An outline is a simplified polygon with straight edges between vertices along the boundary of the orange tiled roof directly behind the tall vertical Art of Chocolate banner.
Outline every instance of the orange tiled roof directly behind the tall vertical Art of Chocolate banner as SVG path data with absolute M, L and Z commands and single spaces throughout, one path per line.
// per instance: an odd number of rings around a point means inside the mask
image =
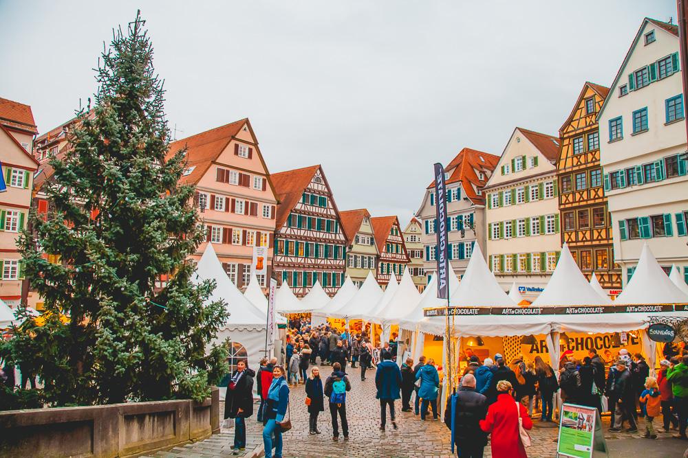
M 482 160 L 480 159 L 482 157 Z M 444 171 L 449 173 L 449 178 L 447 179 L 447 184 L 456 183 L 458 181 L 465 181 L 464 192 L 466 197 L 471 199 L 473 203 L 484 203 L 485 197 L 478 196 L 473 189 L 475 187 L 483 187 L 487 183 L 488 176 L 485 174 L 484 179 L 480 179 L 477 170 L 484 170 L 486 172 L 492 172 L 497 167 L 499 163 L 499 156 L 495 154 L 490 154 L 488 152 L 473 150 L 471 148 L 463 148 L 459 154 L 451 160 Z M 433 187 L 435 181 L 430 183 L 428 188 Z

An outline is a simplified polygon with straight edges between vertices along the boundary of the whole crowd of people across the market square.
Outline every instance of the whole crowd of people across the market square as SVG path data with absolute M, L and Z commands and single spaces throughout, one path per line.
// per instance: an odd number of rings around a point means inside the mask
M 253 371 L 241 360 L 230 376 L 224 416 L 234 419 L 233 448 L 237 455 L 246 447 L 245 419 L 254 413 L 254 380 L 260 398 L 257 420 L 264 424 L 267 458 L 282 456 L 281 435 L 291 427 L 290 388 L 298 385 L 305 387 L 309 433 L 321 434 L 319 413 L 327 407 L 332 439 L 349 439 L 346 401 L 352 385 L 347 368 L 360 368 L 361 380 L 366 380 L 368 369 L 375 369 L 380 431 L 387 428 L 387 420 L 392 428 L 398 428 L 398 399 L 403 412 L 412 411 L 421 421 L 429 420 L 431 412 L 432 420 L 440 420 L 442 368 L 424 356 L 416 364 L 407 358 L 398 365 L 395 335 L 389 342 L 374 346 L 365 332 L 340 332 L 329 325 L 312 328 L 301 321 L 289 330 L 283 352 L 284 366 L 277 364 L 277 358 L 264 358 L 259 369 Z M 555 394 L 559 391 L 563 402 L 601 413 L 610 411 L 610 431 L 621 431 L 625 423 L 627 431 L 638 431 L 640 411 L 645 418 L 645 437 L 657 437 L 654 419 L 661 415 L 664 432 L 676 431 L 676 437 L 687 439 L 687 353 L 683 346 L 667 344 L 667 359 L 660 362 L 656 378 L 649 376 L 643 355 L 632 355 L 623 348 L 613 363 L 598 356 L 594 349 L 583 360 L 575 359 L 572 352 L 563 352 L 556 369 L 540 356 L 507 362 L 502 354 L 482 361 L 471 354 L 456 396 L 447 400 L 444 422 L 449 428 L 454 424 L 453 441 L 460 457 L 482 457 L 488 435 L 493 457 L 526 457 L 526 430 L 533 426 L 531 417 L 539 411 L 541 422 L 552 422 Z M 332 373 L 323 382 L 320 367 L 325 365 L 332 367 Z

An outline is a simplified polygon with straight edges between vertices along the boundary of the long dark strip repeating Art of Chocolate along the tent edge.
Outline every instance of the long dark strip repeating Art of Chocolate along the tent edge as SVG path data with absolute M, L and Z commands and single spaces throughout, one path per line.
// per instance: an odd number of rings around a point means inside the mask
M 561 307 L 438 307 L 424 308 L 424 317 L 449 315 L 588 315 L 608 313 L 658 313 L 688 311 L 688 304 L 643 306 L 561 306 Z

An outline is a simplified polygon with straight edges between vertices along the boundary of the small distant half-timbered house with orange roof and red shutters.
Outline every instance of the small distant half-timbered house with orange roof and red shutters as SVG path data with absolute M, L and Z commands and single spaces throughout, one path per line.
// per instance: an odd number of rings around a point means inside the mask
M 411 262 L 411 258 L 406 251 L 399 219 L 396 216 L 370 218 L 370 223 L 373 226 L 375 244 L 380 253 L 376 278 L 380 286 L 385 286 L 389 283 L 392 272 L 396 277 L 401 277 L 404 268 Z

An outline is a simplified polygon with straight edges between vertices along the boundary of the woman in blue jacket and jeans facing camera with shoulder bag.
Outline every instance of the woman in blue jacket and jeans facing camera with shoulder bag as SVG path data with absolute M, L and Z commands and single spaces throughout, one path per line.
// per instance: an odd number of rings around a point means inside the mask
M 284 421 L 288 404 L 289 387 L 284 379 L 284 368 L 275 366 L 272 369 L 272 383 L 268 390 L 263 415 L 263 445 L 266 458 L 272 458 L 273 446 L 275 446 L 275 458 L 282 458 L 282 430 L 279 424 Z

